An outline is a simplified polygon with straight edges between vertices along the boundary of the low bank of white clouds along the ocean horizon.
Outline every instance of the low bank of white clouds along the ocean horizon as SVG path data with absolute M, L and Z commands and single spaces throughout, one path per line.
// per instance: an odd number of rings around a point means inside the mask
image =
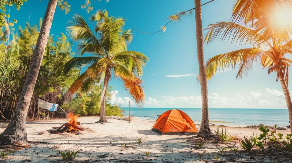
M 267 91 L 267 92 L 266 92 Z M 273 92 L 273 93 L 272 93 Z M 200 92 L 198 91 L 197 94 Z M 137 107 L 131 97 L 119 97 L 118 91 L 111 92 L 111 103 L 128 107 Z M 286 108 L 286 101 L 279 91 L 266 89 L 263 92 L 250 91 L 250 94 L 220 94 L 211 92 L 208 95 L 209 108 Z M 277 96 L 275 98 L 275 96 Z M 144 107 L 147 108 L 201 108 L 202 98 L 198 96 L 157 96 L 147 97 Z

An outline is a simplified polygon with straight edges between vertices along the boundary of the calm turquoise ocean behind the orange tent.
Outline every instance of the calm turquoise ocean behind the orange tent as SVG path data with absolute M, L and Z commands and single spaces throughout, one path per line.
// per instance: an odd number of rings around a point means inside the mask
M 129 108 L 123 109 L 124 115 L 129 115 Z M 167 110 L 179 109 L 197 124 L 201 122 L 200 108 L 131 108 L 131 115 L 155 121 L 157 115 Z M 232 109 L 209 108 L 209 123 L 224 126 L 250 126 L 264 124 L 267 126 L 285 127 L 289 125 L 287 109 Z

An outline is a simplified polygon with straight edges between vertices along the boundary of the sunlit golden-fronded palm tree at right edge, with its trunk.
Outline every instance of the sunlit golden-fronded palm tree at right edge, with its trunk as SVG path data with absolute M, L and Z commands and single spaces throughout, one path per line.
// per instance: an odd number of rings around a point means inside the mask
M 226 66 L 232 68 L 238 66 L 239 71 L 236 78 L 242 78 L 252 69 L 253 62 L 261 62 L 263 68 L 267 68 L 268 74 L 275 72 L 277 81 L 280 80 L 292 127 L 292 102 L 288 90 L 288 70 L 292 61 L 287 58 L 292 53 L 290 38 L 292 26 L 288 24 L 285 28 L 281 28 L 281 24 L 274 21 L 275 13 L 271 10 L 271 3 L 256 2 L 238 0 L 233 10 L 234 22 L 217 22 L 206 28 L 208 32 L 204 41 L 207 44 L 220 37 L 222 41 L 227 38 L 231 42 L 252 44 L 253 46 L 210 58 L 206 63 L 207 79 L 210 80 L 216 71 L 224 69 Z M 245 25 L 239 24 L 241 20 L 244 20 Z M 249 23 L 250 25 L 247 25 Z

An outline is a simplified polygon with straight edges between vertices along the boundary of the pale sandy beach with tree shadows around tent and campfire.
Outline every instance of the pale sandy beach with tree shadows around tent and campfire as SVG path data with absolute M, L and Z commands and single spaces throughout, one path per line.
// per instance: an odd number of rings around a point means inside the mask
M 74 162 L 216 162 L 213 153 L 216 154 L 216 146 L 225 147 L 225 144 L 206 143 L 201 149 L 193 148 L 192 136 L 159 135 L 151 129 L 154 121 L 136 118 L 129 123 L 117 117 L 108 118 L 108 122 L 101 124 L 97 116 L 79 117 L 78 121 L 86 130 L 80 135 L 70 133 L 51 134 L 53 126 L 61 126 L 66 119 L 49 119 L 38 122 L 27 122 L 27 136 L 30 148 L 17 148 L 16 152 L 8 155 L 0 162 L 62 162 L 61 155 L 56 150 L 82 150 Z M 8 123 L 0 123 L 0 132 L 3 132 Z M 217 126 L 211 126 L 215 130 Z M 242 138 L 253 133 L 260 134 L 258 129 L 225 127 L 229 132 Z M 279 131 L 286 135 L 288 130 Z M 137 137 L 142 137 L 142 143 L 138 145 Z M 134 143 L 136 144 L 134 145 Z M 234 144 L 230 142 L 229 145 Z M 216 146 L 215 146 L 216 145 Z M 236 144 L 239 146 L 239 143 Z M 198 152 L 206 150 L 203 159 L 200 160 Z M 242 149 L 239 148 L 239 151 Z M 150 152 L 147 159 L 145 151 Z M 218 152 L 217 152 L 218 153 Z M 232 151 L 220 157 L 225 162 L 272 162 L 269 157 L 256 156 L 250 158 L 248 153 L 241 152 L 234 159 Z M 116 160 L 113 160 L 116 159 Z

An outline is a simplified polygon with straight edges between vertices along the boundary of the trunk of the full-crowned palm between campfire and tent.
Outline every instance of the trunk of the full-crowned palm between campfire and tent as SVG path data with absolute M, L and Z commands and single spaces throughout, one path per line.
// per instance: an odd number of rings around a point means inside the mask
M 102 90 L 102 95 L 101 95 L 101 105 L 100 105 L 100 117 L 99 117 L 99 121 L 100 122 L 107 122 L 107 117 L 105 114 L 105 96 L 107 94 L 107 85 L 109 82 L 109 78 L 110 78 L 110 67 L 107 68 L 107 70 L 105 71 L 105 80 L 103 82 L 103 90 Z

